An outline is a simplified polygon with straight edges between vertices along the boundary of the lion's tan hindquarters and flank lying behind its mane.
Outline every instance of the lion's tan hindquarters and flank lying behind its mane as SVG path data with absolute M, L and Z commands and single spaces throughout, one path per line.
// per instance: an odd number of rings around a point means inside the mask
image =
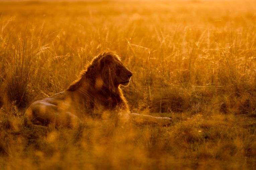
M 43 100 L 32 103 L 25 113 L 26 124 L 47 126 L 55 123 L 57 126 L 76 126 L 89 111 L 86 101 L 77 97 L 75 92 L 63 91 Z

